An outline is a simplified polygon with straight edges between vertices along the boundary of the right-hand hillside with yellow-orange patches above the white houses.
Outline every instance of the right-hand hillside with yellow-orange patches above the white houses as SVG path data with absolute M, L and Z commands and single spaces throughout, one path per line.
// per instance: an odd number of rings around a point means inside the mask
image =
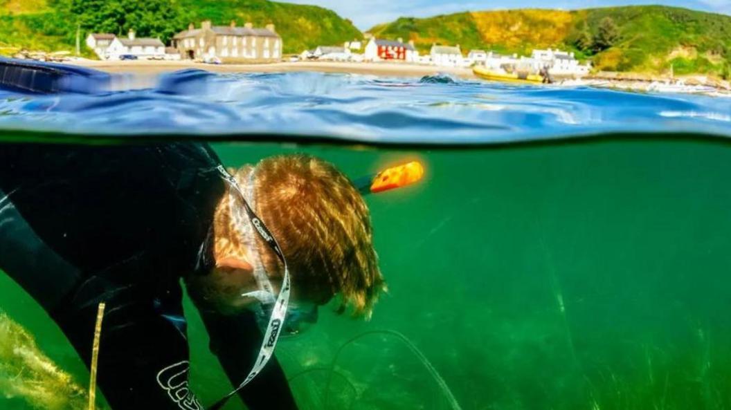
M 520 9 L 399 18 L 371 28 L 384 38 L 413 39 L 501 53 L 559 47 L 608 71 L 708 73 L 729 77 L 731 17 L 664 6 L 575 11 Z

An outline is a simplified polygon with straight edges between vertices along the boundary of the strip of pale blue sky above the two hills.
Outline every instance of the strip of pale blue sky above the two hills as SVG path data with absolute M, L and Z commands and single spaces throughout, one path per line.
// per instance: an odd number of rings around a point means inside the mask
M 360 30 L 368 30 L 379 23 L 388 23 L 399 17 L 429 17 L 433 15 L 463 12 L 466 10 L 550 8 L 583 9 L 587 7 L 625 6 L 627 4 L 666 4 L 731 14 L 731 0 L 669 0 L 669 1 L 632 1 L 626 3 L 616 0 L 284 0 L 287 3 L 315 4 L 335 10 L 344 18 L 349 18 Z

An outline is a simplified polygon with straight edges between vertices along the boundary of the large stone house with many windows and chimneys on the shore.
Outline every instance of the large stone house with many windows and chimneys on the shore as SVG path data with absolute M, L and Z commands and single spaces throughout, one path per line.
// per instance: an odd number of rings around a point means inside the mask
M 178 49 L 181 58 L 225 60 L 279 61 L 282 41 L 273 24 L 266 28 L 254 28 L 251 23 L 237 27 L 235 22 L 229 26 L 211 26 L 206 20 L 195 28 L 191 24 L 186 31 L 173 37 L 173 47 Z

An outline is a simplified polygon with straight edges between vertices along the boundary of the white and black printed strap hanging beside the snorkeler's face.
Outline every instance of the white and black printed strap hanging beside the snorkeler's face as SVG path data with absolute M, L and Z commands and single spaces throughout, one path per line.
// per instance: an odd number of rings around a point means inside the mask
M 243 191 L 238 186 L 238 182 L 236 182 L 236 179 L 232 177 L 231 174 L 229 174 L 223 166 L 219 165 L 217 169 L 221 174 L 221 177 L 223 177 L 223 179 L 228 182 L 230 187 L 233 190 L 237 191 L 240 195 L 244 209 L 246 210 L 246 214 L 249 216 L 249 220 L 251 221 L 251 225 L 254 225 L 254 228 L 256 229 L 257 233 L 259 233 L 259 236 L 277 255 L 277 258 L 281 260 L 282 265 L 284 265 L 284 278 L 281 282 L 279 296 L 277 296 L 276 302 L 274 303 L 272 309 L 272 314 L 269 319 L 269 324 L 267 325 L 267 330 L 264 333 L 264 340 L 262 341 L 262 346 L 259 349 L 257 361 L 254 362 L 254 367 L 251 368 L 251 371 L 249 371 L 249 375 L 246 376 L 246 379 L 244 379 L 243 382 L 241 382 L 241 384 L 239 384 L 238 387 L 235 388 L 235 390 L 225 395 L 224 398 L 221 398 L 221 400 L 213 404 L 210 410 L 221 409 L 221 407 L 223 407 L 224 404 L 226 404 L 226 402 L 233 395 L 243 389 L 246 384 L 249 384 L 249 382 L 251 382 L 251 380 L 253 380 L 254 377 L 256 377 L 257 374 L 259 374 L 264 366 L 268 363 L 269 359 L 274 354 L 274 347 L 276 347 L 276 342 L 279 340 L 279 333 L 282 328 L 282 324 L 284 324 L 284 317 L 287 315 L 287 305 L 289 304 L 289 268 L 287 267 L 287 260 L 284 258 L 284 253 L 281 252 L 279 244 L 277 243 L 276 239 L 274 239 L 274 236 L 270 233 L 269 229 L 266 227 L 266 225 L 264 225 L 262 220 L 257 217 L 257 214 L 254 213 L 254 210 L 251 209 L 251 206 L 249 206 L 249 203 L 246 201 L 246 197 L 243 195 Z

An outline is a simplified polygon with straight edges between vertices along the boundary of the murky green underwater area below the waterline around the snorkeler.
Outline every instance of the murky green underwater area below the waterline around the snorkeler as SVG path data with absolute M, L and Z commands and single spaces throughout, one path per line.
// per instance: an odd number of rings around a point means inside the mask
M 404 158 L 428 170 L 368 198 L 390 287 L 373 319 L 322 309 L 316 328 L 281 342 L 301 409 L 455 408 L 401 339 L 374 330 L 406 336 L 461 409 L 731 409 L 731 144 L 214 148 L 227 166 L 308 152 L 352 176 Z M 4 275 L 0 309 L 86 385 L 60 331 Z M 230 384 L 190 303 L 186 314 L 192 384 L 211 403 Z M 0 409 L 26 407 L 0 398 Z

